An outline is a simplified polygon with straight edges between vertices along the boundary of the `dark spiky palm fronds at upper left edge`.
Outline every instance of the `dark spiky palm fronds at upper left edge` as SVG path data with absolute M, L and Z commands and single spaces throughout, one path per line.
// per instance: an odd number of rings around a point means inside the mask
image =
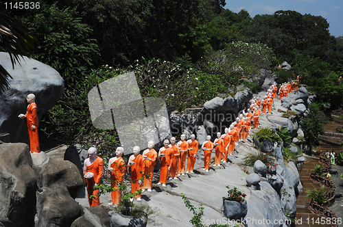
M 13 68 L 14 64 L 20 64 L 19 57 L 32 52 L 35 42 L 36 38 L 29 34 L 27 27 L 0 12 L 0 48 L 10 55 Z M 12 79 L 11 75 L 0 65 L 0 94 L 9 88 L 9 78 Z

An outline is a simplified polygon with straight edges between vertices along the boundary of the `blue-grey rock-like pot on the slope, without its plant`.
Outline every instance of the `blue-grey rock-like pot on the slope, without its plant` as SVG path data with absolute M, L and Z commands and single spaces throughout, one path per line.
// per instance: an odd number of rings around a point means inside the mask
M 223 199 L 224 205 L 224 215 L 228 219 L 241 219 L 246 217 L 246 213 L 248 213 L 248 204 L 246 200 L 244 202 L 236 202 L 231 200 Z

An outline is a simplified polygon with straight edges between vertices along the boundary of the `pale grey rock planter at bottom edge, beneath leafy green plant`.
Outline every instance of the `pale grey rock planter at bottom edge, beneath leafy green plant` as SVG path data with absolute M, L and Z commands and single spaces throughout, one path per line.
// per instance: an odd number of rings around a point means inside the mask
M 145 227 L 147 226 L 147 214 L 142 212 L 137 217 L 123 215 L 121 212 L 110 211 L 110 226 L 121 227 Z

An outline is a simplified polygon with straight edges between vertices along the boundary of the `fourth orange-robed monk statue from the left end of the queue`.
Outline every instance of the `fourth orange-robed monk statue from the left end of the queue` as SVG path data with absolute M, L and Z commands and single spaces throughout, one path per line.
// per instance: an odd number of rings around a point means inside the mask
M 143 151 L 143 168 L 144 168 L 144 180 L 143 189 L 151 191 L 152 189 L 152 174 L 154 173 L 154 165 L 157 158 L 157 152 L 154 150 L 154 142 L 150 141 L 147 143 L 147 149 Z

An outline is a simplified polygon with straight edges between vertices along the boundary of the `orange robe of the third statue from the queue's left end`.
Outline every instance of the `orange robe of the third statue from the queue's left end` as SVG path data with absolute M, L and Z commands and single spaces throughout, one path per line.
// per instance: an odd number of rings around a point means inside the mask
M 137 157 L 132 159 L 131 161 L 134 162 L 133 165 L 131 165 L 131 193 L 136 193 L 136 191 L 139 191 L 142 189 L 142 185 L 139 184 L 139 178 L 143 180 L 143 161 L 144 158 L 141 154 L 139 154 Z M 134 196 L 134 198 L 141 198 L 141 193 Z

